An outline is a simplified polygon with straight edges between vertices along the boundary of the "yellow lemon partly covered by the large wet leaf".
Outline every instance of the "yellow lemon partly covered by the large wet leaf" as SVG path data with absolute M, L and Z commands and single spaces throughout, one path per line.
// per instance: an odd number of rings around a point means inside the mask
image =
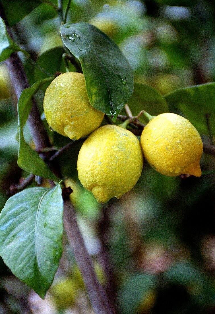
M 74 72 L 60 74 L 46 89 L 44 114 L 54 131 L 73 140 L 93 132 L 104 117 L 90 105 L 84 74 Z

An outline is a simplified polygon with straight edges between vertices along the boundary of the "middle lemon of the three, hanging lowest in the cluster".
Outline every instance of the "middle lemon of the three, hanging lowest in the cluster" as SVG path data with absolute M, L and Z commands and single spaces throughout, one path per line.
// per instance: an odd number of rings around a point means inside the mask
M 143 167 L 141 146 L 130 131 L 105 125 L 84 141 L 77 170 L 81 184 L 99 203 L 120 198 L 138 181 Z

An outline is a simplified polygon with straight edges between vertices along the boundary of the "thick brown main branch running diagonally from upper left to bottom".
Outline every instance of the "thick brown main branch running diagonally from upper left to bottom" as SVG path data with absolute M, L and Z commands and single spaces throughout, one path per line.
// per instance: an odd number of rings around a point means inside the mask
M 7 21 L 4 16 L 3 7 L 0 2 L 0 16 Z M 10 28 L 7 26 L 8 34 L 12 36 Z M 12 84 L 17 95 L 17 98 L 21 94 L 22 90 L 29 87 L 28 79 L 23 69 L 21 60 L 18 54 L 14 52 L 6 61 Z M 36 150 L 41 151 L 45 147 L 50 146 L 48 135 L 44 129 L 43 123 L 40 119 L 39 111 L 35 100 L 32 101 L 32 109 L 28 116 L 28 126 L 35 143 Z M 49 152 L 43 153 L 46 159 Z M 47 159 L 46 159 L 47 160 Z M 59 173 L 57 165 L 51 165 L 52 170 L 55 173 Z M 86 285 L 86 289 L 90 296 L 92 307 L 96 314 L 113 314 L 114 311 L 109 304 L 107 296 L 103 287 L 99 284 L 96 278 L 94 268 L 92 266 L 91 258 L 84 245 L 84 240 L 80 233 L 74 208 L 69 201 L 64 202 L 64 228 L 66 230 L 68 240 L 73 248 L 75 258 L 80 267 L 83 279 Z

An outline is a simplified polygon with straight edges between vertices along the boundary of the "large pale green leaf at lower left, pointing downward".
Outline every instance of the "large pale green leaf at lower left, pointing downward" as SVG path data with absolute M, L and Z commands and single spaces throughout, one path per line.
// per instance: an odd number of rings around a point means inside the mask
M 0 230 L 4 263 L 44 299 L 62 254 L 60 185 L 33 187 L 13 195 L 0 214 Z

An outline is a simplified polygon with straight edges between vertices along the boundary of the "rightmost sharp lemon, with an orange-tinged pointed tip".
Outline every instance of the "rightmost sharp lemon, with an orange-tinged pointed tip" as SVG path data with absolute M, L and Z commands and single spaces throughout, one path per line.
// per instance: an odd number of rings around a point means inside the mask
M 202 174 L 202 139 L 182 116 L 162 113 L 153 118 L 142 132 L 141 146 L 148 163 L 163 175 Z

